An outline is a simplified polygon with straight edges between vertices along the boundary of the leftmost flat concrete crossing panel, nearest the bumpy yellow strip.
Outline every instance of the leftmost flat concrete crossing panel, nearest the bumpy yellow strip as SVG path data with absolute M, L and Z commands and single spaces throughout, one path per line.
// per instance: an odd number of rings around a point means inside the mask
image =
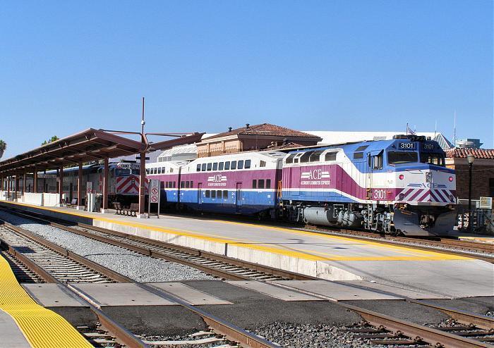
M 58 284 L 21 284 L 37 304 L 44 307 L 84 307 L 87 306 L 75 294 L 66 292 Z

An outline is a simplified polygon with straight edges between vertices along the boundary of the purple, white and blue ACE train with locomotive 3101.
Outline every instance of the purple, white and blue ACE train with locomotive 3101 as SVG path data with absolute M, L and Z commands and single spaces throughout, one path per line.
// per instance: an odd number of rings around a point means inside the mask
M 415 135 L 288 153 L 252 151 L 150 163 L 167 206 L 402 235 L 447 235 L 454 170 Z

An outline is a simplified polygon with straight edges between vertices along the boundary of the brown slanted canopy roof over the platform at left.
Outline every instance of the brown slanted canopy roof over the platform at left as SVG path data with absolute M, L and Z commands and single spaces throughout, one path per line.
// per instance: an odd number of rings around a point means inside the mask
M 139 133 L 134 134 L 140 135 Z M 147 151 L 169 149 L 181 144 L 198 142 L 203 134 L 170 134 L 176 138 L 148 143 L 147 140 L 139 142 L 113 134 L 112 131 L 89 128 L 24 154 L 19 154 L 11 159 L 0 161 L 0 175 L 29 172 L 35 167 L 36 170 L 48 170 L 61 166 L 77 166 L 80 162 L 99 161 Z M 146 139 L 146 137 L 144 138 Z

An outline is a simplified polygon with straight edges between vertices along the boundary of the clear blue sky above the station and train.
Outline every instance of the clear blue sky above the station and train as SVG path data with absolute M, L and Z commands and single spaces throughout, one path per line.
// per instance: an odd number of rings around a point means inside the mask
M 438 130 L 493 147 L 493 1 L 1 1 L 4 159 L 85 128 Z

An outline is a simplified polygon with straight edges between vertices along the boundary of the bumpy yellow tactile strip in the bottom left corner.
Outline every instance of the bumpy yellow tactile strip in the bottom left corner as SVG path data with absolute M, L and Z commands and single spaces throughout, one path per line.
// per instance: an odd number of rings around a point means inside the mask
M 64 318 L 40 306 L 25 292 L 3 256 L 0 256 L 0 309 L 13 318 L 33 348 L 92 347 Z

